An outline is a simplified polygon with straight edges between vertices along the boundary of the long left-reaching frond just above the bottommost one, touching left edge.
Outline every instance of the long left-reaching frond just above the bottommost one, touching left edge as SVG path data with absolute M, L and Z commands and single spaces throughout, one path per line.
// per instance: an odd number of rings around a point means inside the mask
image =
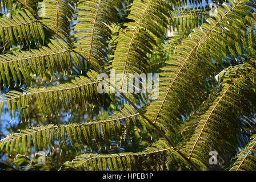
M 127 115 L 123 113 L 127 113 Z M 62 150 L 66 150 L 67 144 L 71 144 L 82 150 L 86 150 L 85 146 L 87 146 L 98 151 L 111 146 L 113 141 L 121 144 L 123 141 L 131 139 L 130 133 L 133 126 L 137 125 L 138 117 L 139 114 L 126 105 L 121 111 L 116 111 L 109 116 L 109 119 L 102 121 L 31 127 L 2 139 L 0 150 L 5 150 L 7 154 L 33 152 L 31 146 L 34 146 L 35 151 L 51 150 L 57 140 Z

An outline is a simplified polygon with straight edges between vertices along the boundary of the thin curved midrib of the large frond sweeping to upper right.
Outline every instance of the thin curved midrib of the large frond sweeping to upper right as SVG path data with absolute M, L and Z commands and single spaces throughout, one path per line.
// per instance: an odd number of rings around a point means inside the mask
M 239 5 L 239 3 L 238 3 L 237 5 Z M 222 18 L 225 17 L 227 14 L 229 14 L 230 11 L 232 11 L 235 7 L 237 7 L 237 5 L 235 5 L 235 6 L 232 7 L 229 11 L 227 11 L 227 13 L 222 16 Z M 165 104 L 166 98 L 167 98 L 167 96 L 169 95 L 170 90 L 171 90 L 171 88 L 173 87 L 174 82 L 177 80 L 177 78 L 178 78 L 178 76 L 179 76 L 179 73 L 181 73 L 182 69 L 185 67 L 185 65 L 186 65 L 187 61 L 189 60 L 190 56 L 191 56 L 192 53 L 195 51 L 195 49 L 197 49 L 197 47 L 199 47 L 199 46 L 201 45 L 201 42 L 203 41 L 203 39 L 205 39 L 205 38 L 210 34 L 210 32 L 217 26 L 217 24 L 222 20 L 222 18 L 220 18 L 220 19 L 214 24 L 214 26 L 211 27 L 211 29 L 210 29 L 209 31 L 207 31 L 207 33 L 199 40 L 199 42 L 197 43 L 197 45 L 195 45 L 195 47 L 190 51 L 190 53 L 189 53 L 189 55 L 187 56 L 186 60 L 185 60 L 184 63 L 182 64 L 181 68 L 179 69 L 179 72 L 178 72 L 177 75 L 175 76 L 174 80 L 171 82 L 170 88 L 169 88 L 169 90 L 167 91 L 165 98 L 163 99 L 162 105 L 161 105 L 161 107 L 160 107 L 160 109 L 159 109 L 159 111 L 158 111 L 158 113 L 157 113 L 157 116 L 155 117 L 154 123 L 157 122 L 157 118 L 158 118 L 158 116 L 159 116 L 159 114 L 160 114 L 160 112 L 161 112 L 161 110 L 162 110 L 162 108 L 163 108 L 163 104 Z

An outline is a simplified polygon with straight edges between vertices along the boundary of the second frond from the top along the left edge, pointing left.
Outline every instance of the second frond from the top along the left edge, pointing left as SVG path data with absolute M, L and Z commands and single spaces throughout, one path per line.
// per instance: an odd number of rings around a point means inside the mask
M 0 80 L 10 84 L 10 78 L 21 83 L 22 78 L 26 81 L 30 78 L 30 72 L 37 75 L 45 75 L 47 71 L 51 74 L 67 72 L 72 69 L 74 59 L 80 67 L 81 63 L 74 52 L 62 40 L 51 40 L 47 47 L 31 49 L 30 51 L 14 51 L 13 54 L 0 55 Z M 11 73 L 11 74 L 10 74 Z

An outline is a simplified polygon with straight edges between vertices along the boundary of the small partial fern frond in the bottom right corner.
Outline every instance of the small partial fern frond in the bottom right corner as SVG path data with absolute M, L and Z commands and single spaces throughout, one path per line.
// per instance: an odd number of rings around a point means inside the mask
M 255 171 L 256 170 L 256 136 L 252 137 L 251 142 L 236 156 L 230 171 Z

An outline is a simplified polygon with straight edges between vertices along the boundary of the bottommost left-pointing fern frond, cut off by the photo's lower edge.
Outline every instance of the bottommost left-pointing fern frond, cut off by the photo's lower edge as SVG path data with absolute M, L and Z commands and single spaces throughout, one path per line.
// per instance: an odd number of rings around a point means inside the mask
M 119 154 L 82 154 L 72 162 L 66 162 L 61 169 L 76 170 L 168 170 L 167 155 L 171 154 L 173 147 L 166 147 L 165 140 L 158 142 L 142 152 L 123 152 Z M 165 147 L 163 147 L 165 146 Z M 138 164 L 142 164 L 139 166 Z

